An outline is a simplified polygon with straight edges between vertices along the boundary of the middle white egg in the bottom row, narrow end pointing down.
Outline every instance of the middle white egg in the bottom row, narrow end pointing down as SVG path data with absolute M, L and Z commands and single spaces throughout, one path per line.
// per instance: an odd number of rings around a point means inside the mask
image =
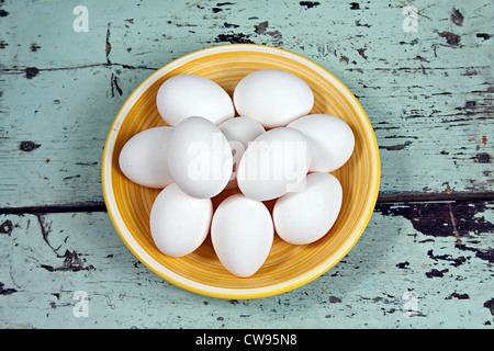
M 211 223 L 216 256 L 232 274 L 240 278 L 252 275 L 265 263 L 273 236 L 266 205 L 242 194 L 224 200 Z

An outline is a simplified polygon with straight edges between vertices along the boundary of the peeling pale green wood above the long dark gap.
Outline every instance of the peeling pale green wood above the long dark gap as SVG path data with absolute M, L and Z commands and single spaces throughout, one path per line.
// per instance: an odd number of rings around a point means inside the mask
M 403 31 L 400 1 L 88 1 L 90 30 L 76 33 L 74 4 L 4 4 L 0 207 L 101 204 L 102 148 L 125 98 L 173 58 L 238 42 L 304 55 L 351 89 L 375 129 L 384 197 L 492 193 L 494 5 L 414 5 L 418 32 Z

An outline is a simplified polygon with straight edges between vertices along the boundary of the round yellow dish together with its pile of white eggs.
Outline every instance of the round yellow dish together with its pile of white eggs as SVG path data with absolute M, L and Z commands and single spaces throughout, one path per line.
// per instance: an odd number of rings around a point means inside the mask
M 372 215 L 380 158 L 353 94 L 297 54 L 214 46 L 150 75 L 108 134 L 102 186 L 148 269 L 220 298 L 318 278 Z

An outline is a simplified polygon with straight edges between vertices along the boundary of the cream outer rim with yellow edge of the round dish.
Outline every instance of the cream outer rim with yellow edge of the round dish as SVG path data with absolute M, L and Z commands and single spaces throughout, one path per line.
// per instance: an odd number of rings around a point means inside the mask
M 132 109 L 134 103 L 137 101 L 138 97 L 157 79 L 162 77 L 166 72 L 180 67 L 181 65 L 188 63 L 189 60 L 193 60 L 195 58 L 204 57 L 213 54 L 228 53 L 228 52 L 256 52 L 256 53 L 268 53 L 278 56 L 283 56 L 291 59 L 296 59 L 299 63 L 310 66 L 318 73 L 322 73 L 324 78 L 330 78 L 332 82 L 338 87 L 338 90 L 343 89 L 345 95 L 349 98 L 349 100 L 355 104 L 357 111 L 366 124 L 366 134 L 370 137 L 372 147 L 375 149 L 375 152 L 372 152 L 372 180 L 371 180 L 371 191 L 369 201 L 364 207 L 364 216 L 360 218 L 357 225 L 357 230 L 355 230 L 349 238 L 347 238 L 344 244 L 336 250 L 334 254 L 332 254 L 327 260 L 324 260 L 317 267 L 311 269 L 304 274 L 300 274 L 293 279 L 290 279 L 283 283 L 278 283 L 273 285 L 267 285 L 262 287 L 247 287 L 247 288 L 225 288 L 225 287 L 216 287 L 207 284 L 198 283 L 193 280 L 187 279 L 182 275 L 179 275 L 164 265 L 161 265 L 158 261 L 156 261 L 153 257 L 150 257 L 144 249 L 142 249 L 137 241 L 134 239 L 130 230 L 124 225 L 123 218 L 117 210 L 116 202 L 114 195 L 109 190 L 112 189 L 112 179 L 111 179 L 111 166 L 114 150 L 114 143 L 116 140 L 116 136 L 120 132 L 120 127 L 122 125 L 125 115 Z M 120 107 L 117 114 L 115 115 L 110 131 L 106 136 L 106 140 L 104 144 L 103 156 L 102 156 L 102 167 L 101 167 L 101 181 L 102 181 L 102 190 L 104 203 L 108 210 L 108 214 L 112 220 L 113 227 L 117 231 L 121 239 L 124 241 L 125 246 L 131 250 L 131 252 L 143 262 L 149 270 L 151 270 L 155 274 L 160 276 L 161 279 L 180 286 L 187 291 L 211 296 L 218 298 L 236 298 L 236 299 L 246 299 L 246 298 L 260 298 L 274 296 L 278 294 L 285 293 L 288 291 L 292 291 L 296 287 L 303 286 L 316 278 L 321 276 L 325 272 L 327 272 L 330 268 L 333 268 L 336 263 L 338 263 L 356 245 L 359 240 L 360 236 L 368 226 L 368 223 L 372 216 L 373 208 L 375 207 L 378 194 L 379 194 L 379 185 L 380 185 L 380 176 L 381 176 L 381 161 L 379 155 L 379 146 L 375 138 L 374 131 L 370 123 L 367 113 L 361 106 L 360 102 L 357 98 L 351 93 L 351 91 L 338 79 L 336 78 L 329 70 L 324 68 L 323 66 L 314 63 L 313 60 L 299 55 L 296 53 L 273 47 L 269 45 L 261 44 L 225 44 L 225 45 L 216 45 L 206 48 L 202 48 L 195 52 L 191 52 L 187 55 L 183 55 L 179 58 L 176 58 L 168 63 L 167 65 L 160 67 L 150 76 L 148 76 L 139 86 L 134 89 L 134 91 L 128 95 L 125 102 Z

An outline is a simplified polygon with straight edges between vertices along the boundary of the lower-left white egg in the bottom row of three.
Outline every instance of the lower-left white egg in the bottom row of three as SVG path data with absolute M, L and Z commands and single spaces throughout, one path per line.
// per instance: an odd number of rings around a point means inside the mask
M 153 203 L 149 215 L 153 240 L 167 256 L 189 254 L 206 238 L 212 215 L 210 199 L 191 197 L 172 183 Z

